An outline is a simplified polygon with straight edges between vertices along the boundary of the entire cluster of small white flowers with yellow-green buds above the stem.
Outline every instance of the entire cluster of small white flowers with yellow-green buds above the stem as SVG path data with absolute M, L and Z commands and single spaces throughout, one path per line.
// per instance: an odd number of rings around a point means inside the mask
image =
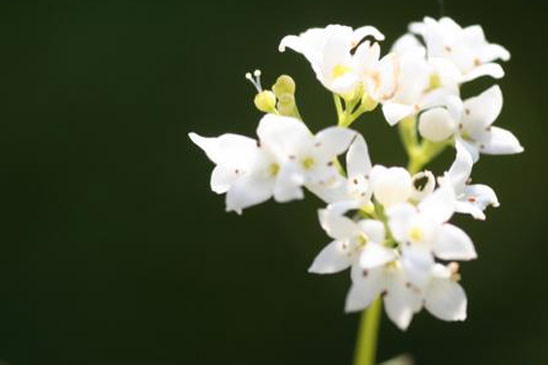
M 372 26 L 342 25 L 282 39 L 279 50 L 302 54 L 333 93 L 336 125 L 313 133 L 297 108 L 294 81 L 283 75 L 263 90 L 255 71 L 246 77 L 265 113 L 257 138 L 189 136 L 215 164 L 211 189 L 226 194 L 227 211 L 241 213 L 271 198 L 302 199 L 304 189 L 326 203 L 318 215 L 332 241 L 309 271 L 350 269 L 346 311 L 382 297 L 401 329 L 423 307 L 443 320 L 464 320 L 457 261 L 477 254 L 470 237 L 449 221 L 456 213 L 484 220 L 485 209 L 499 205 L 489 186 L 470 184 L 480 154 L 523 148 L 512 133 L 492 126 L 502 108 L 498 86 L 464 100 L 460 86 L 481 76 L 503 77 L 494 61 L 510 55 L 489 43 L 480 26 L 462 28 L 450 18 L 412 23 L 381 56 L 383 39 Z M 373 164 L 364 137 L 348 128 L 378 105 L 399 129 L 407 169 Z M 423 169 L 447 147 L 456 151 L 447 171 L 436 177 Z

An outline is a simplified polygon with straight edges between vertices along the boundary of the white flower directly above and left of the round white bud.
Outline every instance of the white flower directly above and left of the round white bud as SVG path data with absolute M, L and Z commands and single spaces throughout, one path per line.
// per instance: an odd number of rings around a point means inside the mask
M 416 38 L 404 36 L 393 47 L 397 89 L 384 100 L 382 110 L 390 125 L 443 103 L 448 95 L 459 95 L 459 70 L 451 62 L 425 56 Z

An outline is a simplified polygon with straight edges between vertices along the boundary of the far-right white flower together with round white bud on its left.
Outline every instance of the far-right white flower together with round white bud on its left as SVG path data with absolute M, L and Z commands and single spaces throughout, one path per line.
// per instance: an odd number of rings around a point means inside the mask
M 448 97 L 445 107 L 432 108 L 419 117 L 419 132 L 433 141 L 455 135 L 474 161 L 480 153 L 491 155 L 523 152 L 518 139 L 506 129 L 493 127 L 502 109 L 502 92 L 494 85 L 464 102 Z

